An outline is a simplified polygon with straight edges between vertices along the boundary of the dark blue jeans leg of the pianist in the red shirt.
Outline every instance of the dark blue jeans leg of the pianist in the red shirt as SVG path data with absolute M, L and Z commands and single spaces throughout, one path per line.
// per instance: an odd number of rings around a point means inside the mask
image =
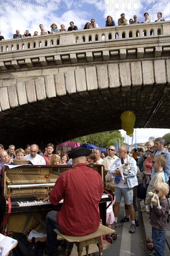
M 57 233 L 54 229 L 60 229 L 56 218 L 57 211 L 50 211 L 46 215 L 46 251 L 57 251 Z

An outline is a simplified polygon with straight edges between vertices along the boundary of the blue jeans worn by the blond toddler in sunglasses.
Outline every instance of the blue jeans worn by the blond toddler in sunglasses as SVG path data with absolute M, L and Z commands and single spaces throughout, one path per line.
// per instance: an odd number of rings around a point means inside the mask
M 165 230 L 152 227 L 152 239 L 157 256 L 165 255 Z

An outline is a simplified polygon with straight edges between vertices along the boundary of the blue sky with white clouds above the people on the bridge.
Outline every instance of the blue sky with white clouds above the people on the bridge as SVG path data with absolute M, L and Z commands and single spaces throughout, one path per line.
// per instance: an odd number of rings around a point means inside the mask
M 170 20 L 169 0 L 0 0 L 0 31 L 6 39 L 15 34 L 29 30 L 31 34 L 39 30 L 43 24 L 50 30 L 52 23 L 58 27 L 63 23 L 69 27 L 74 21 L 78 29 L 83 29 L 91 18 L 96 20 L 99 27 L 105 27 L 107 15 L 111 15 L 117 25 L 121 13 L 129 20 L 134 14 L 138 20 L 144 20 L 144 13 L 148 12 L 153 20 L 157 19 L 157 12 L 163 13 L 165 20 Z

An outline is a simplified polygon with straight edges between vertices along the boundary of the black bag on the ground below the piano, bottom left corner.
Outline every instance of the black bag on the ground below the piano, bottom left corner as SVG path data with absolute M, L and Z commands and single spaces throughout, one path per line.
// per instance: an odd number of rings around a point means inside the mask
M 32 238 L 32 242 L 30 243 L 23 233 L 16 232 L 9 236 L 18 241 L 17 246 L 12 250 L 13 256 L 42 256 L 43 243 L 40 241 L 35 243 L 35 237 Z

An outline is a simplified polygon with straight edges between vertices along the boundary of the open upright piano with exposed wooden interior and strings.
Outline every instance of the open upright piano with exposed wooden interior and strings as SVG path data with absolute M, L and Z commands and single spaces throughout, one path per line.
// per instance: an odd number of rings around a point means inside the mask
M 105 187 L 104 167 L 97 164 L 88 166 L 98 171 Z M 52 209 L 59 211 L 63 200 L 57 206 L 42 200 L 50 195 L 59 175 L 70 168 L 71 165 L 5 166 L 0 181 L 0 231 L 7 234 L 22 232 L 27 236 L 31 230 L 44 233 L 46 214 Z M 111 201 L 111 195 L 103 194 L 99 203 L 103 224 L 108 201 Z

